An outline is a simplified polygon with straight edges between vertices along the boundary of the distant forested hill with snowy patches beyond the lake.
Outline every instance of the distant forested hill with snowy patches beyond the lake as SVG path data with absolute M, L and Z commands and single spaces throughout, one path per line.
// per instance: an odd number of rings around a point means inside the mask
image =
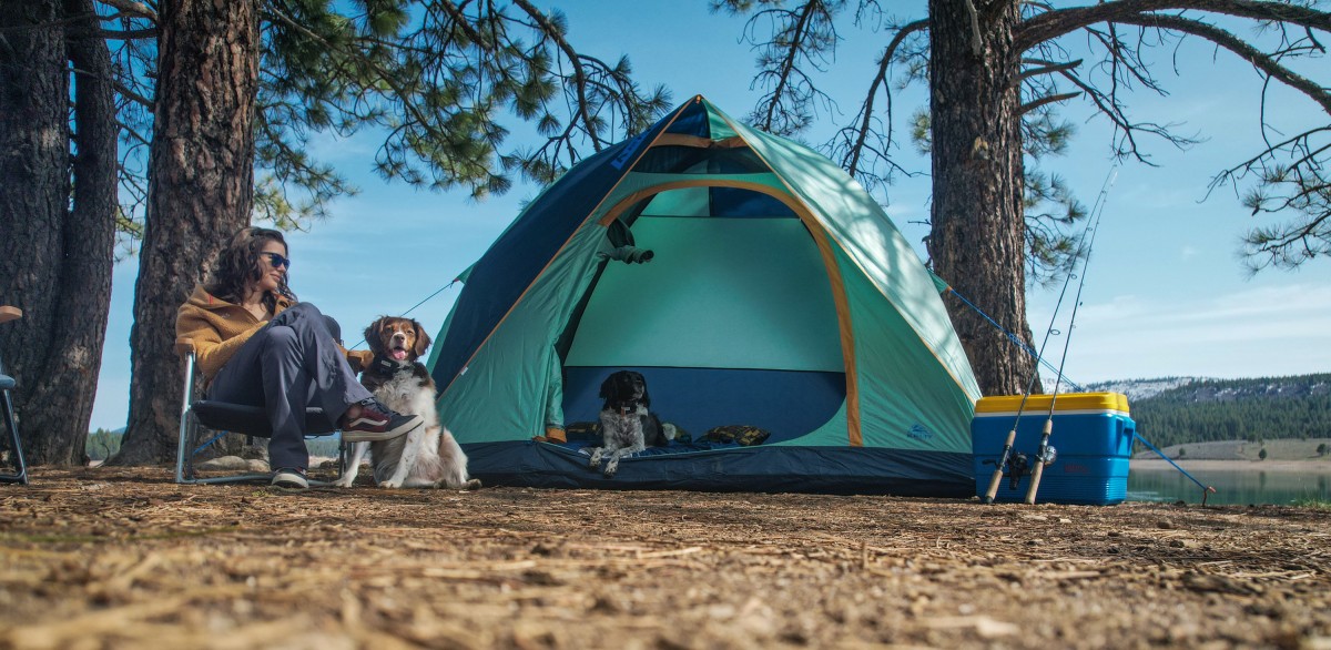
M 1126 394 L 1138 433 L 1159 448 L 1331 438 L 1331 373 L 1252 380 L 1166 377 L 1086 389 Z

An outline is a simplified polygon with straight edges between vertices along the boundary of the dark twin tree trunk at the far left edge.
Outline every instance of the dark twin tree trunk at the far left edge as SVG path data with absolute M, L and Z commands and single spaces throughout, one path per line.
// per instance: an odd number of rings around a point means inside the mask
M 83 462 L 110 308 L 116 123 L 110 55 L 88 1 L 0 1 L 0 328 L 33 465 Z M 75 85 L 71 166 L 69 72 Z M 71 178 L 75 194 L 71 208 Z

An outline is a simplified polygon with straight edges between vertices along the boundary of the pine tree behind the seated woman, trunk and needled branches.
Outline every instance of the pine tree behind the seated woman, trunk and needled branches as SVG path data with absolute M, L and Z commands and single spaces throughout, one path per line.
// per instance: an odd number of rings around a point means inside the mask
M 353 190 L 309 157 L 311 133 L 382 129 L 381 176 L 479 198 L 507 190 L 512 174 L 551 180 L 669 105 L 664 89 L 632 81 L 627 60 L 607 64 L 579 52 L 564 16 L 527 0 L 164 0 L 160 13 L 104 1 L 132 16 L 126 39 L 144 32 L 160 51 L 146 56 L 153 47 L 142 43 L 120 49 L 132 61 L 121 68 L 132 76 L 121 87 L 137 84 L 122 93 L 133 97 L 126 107 L 150 107 L 150 117 L 136 115 L 154 135 L 140 133 L 152 181 L 142 193 L 130 413 L 118 464 L 173 456 L 182 384 L 170 349 L 176 308 L 225 236 L 252 216 L 280 226 L 319 217 L 327 201 Z M 153 71 L 152 61 L 169 68 Z M 506 149 L 507 116 L 534 123 L 544 145 Z

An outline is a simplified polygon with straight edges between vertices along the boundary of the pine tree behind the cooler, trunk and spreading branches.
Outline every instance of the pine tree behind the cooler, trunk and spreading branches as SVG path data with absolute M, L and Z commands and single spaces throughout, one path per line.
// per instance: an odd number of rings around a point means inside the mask
M 870 189 L 901 173 L 890 160 L 900 139 L 893 115 L 893 76 L 928 83 L 929 111 L 912 120 L 917 143 L 932 159 L 933 197 L 926 240 L 936 273 L 1028 344 L 1028 280 L 1045 270 L 1066 270 L 1079 253 L 1067 242 L 1077 210 L 1038 220 L 1028 201 L 1042 193 L 1034 172 L 1042 157 L 1059 151 L 1070 135 L 1055 107 L 1074 99 L 1090 103 L 1115 129 L 1113 153 L 1146 160 L 1141 140 L 1191 141 L 1165 125 L 1134 120 L 1127 111 L 1134 91 L 1166 95 L 1150 65 L 1153 51 L 1167 57 L 1171 45 L 1193 37 L 1218 52 L 1250 63 L 1259 77 L 1302 93 L 1331 113 L 1327 68 L 1300 59 L 1320 56 L 1331 13 L 1295 1 L 1115 0 L 1079 7 L 1013 0 L 930 0 L 922 19 L 884 20 L 880 3 L 803 0 L 792 5 L 752 0 L 715 0 L 715 7 L 751 12 L 745 35 L 760 49 L 755 84 L 767 91 L 752 119 L 760 128 L 792 133 L 813 121 L 819 107 L 836 105 L 817 88 L 817 75 L 835 59 L 839 17 L 889 41 L 877 72 L 866 79 L 860 111 L 843 124 L 827 149 Z M 1260 28 L 1240 37 L 1226 21 Z M 844 23 L 844 21 L 843 21 Z M 847 27 L 841 24 L 840 27 Z M 896 68 L 893 68 L 896 67 Z M 902 72 L 897 72 L 902 71 Z M 1263 107 L 1267 93 L 1259 100 Z M 1274 100 L 1272 100 L 1274 101 Z M 1283 101 L 1283 100 L 1282 100 Z M 1263 119 L 1274 115 L 1263 109 Z M 1288 221 L 1255 228 L 1246 240 L 1247 264 L 1298 266 L 1331 253 L 1331 129 L 1314 125 L 1282 129 L 1263 121 L 1267 148 L 1222 169 L 1215 186 L 1243 182 L 1254 214 L 1280 213 Z M 1037 182 L 1040 181 L 1040 182 Z M 1051 186 L 1051 185 L 1047 185 Z M 1058 202 L 1055 189 L 1044 196 Z M 1017 290 L 1014 290 L 1014 288 Z M 953 324 L 986 394 L 1021 393 L 1033 361 L 960 301 L 949 301 Z

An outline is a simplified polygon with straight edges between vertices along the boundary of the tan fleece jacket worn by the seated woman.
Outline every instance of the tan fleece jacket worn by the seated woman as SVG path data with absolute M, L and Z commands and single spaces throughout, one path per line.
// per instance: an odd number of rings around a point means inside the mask
M 289 301 L 278 298 L 276 312 L 282 313 L 289 306 Z M 204 290 L 204 285 L 197 285 L 176 312 L 176 338 L 194 341 L 194 362 L 204 372 L 204 381 L 212 381 L 236 350 L 266 324 L 268 321 L 256 318 L 245 308 L 226 302 Z M 346 352 L 353 372 L 361 372 L 374 360 L 370 350 L 342 352 Z

